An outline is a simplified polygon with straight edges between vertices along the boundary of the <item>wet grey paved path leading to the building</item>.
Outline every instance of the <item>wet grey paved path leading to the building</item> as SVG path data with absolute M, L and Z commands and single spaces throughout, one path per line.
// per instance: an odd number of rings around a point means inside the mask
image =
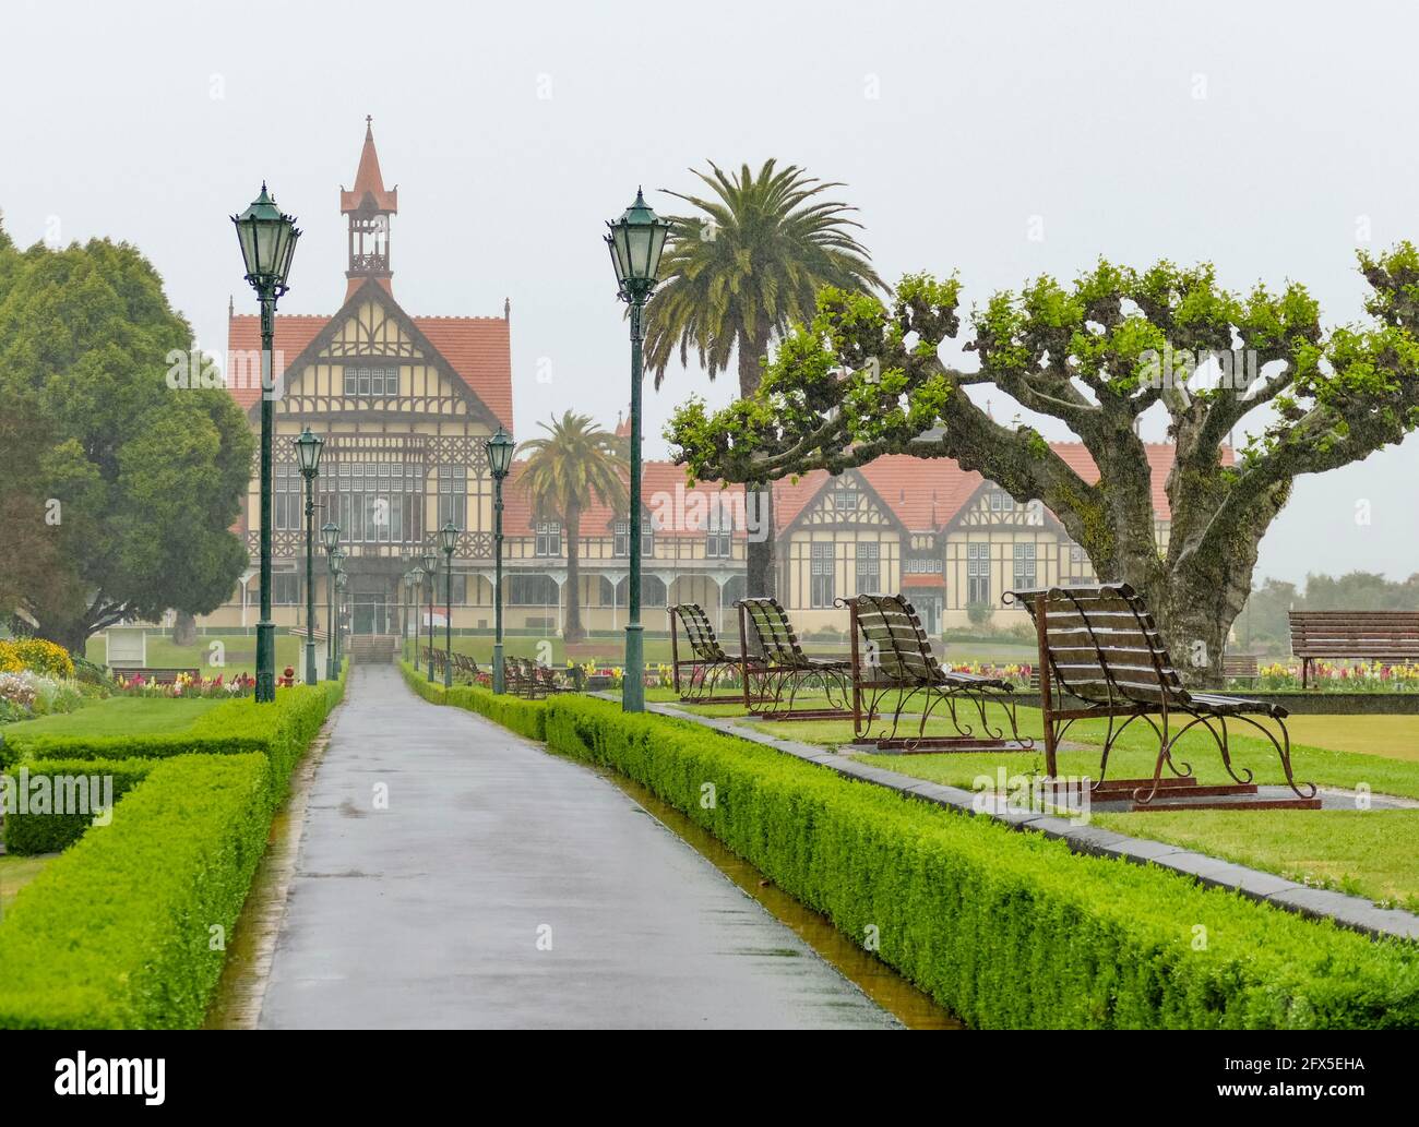
M 895 1024 L 606 780 L 350 671 L 261 1028 Z

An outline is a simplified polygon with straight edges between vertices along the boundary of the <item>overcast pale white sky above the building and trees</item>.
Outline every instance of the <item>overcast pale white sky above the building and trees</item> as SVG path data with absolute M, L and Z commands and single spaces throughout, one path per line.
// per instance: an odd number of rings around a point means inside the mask
M 400 189 L 394 293 L 416 315 L 511 296 L 531 437 L 566 407 L 614 422 L 629 350 L 602 224 L 707 159 L 847 181 L 883 276 L 959 269 L 968 305 L 1103 254 L 1294 278 L 1358 320 L 1358 240 L 1419 238 L 1416 37 L 1419 13 L 1357 3 L 7 0 L 0 208 L 21 245 L 135 242 L 220 349 L 227 295 L 254 310 L 227 215 L 263 177 L 305 230 L 282 312 L 338 308 L 338 189 L 372 113 Z M 647 393 L 647 452 L 705 390 L 691 369 Z M 1257 577 L 1419 571 L 1416 471 L 1412 438 L 1303 478 Z

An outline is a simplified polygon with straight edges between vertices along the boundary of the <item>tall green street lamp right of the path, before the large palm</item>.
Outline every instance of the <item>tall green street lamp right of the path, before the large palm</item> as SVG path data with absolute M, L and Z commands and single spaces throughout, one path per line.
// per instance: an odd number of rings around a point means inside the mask
M 670 224 L 656 215 L 640 189 L 636 201 L 616 223 L 607 223 L 606 245 L 616 269 L 619 296 L 630 306 L 630 607 L 626 618 L 626 676 L 622 678 L 622 710 L 646 710 L 646 651 L 640 628 L 640 383 L 641 316 L 656 288 L 660 252 Z

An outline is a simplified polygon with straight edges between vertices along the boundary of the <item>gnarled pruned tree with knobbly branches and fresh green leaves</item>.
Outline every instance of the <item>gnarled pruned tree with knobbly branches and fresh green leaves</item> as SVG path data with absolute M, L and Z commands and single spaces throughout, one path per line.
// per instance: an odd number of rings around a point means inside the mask
M 1296 478 L 1358 462 L 1419 424 L 1419 252 L 1405 242 L 1359 264 L 1372 320 L 1332 329 L 1303 286 L 1233 293 L 1210 265 L 1100 261 L 1069 286 L 1042 276 L 972 310 L 975 371 L 939 356 L 961 330 L 956 278 L 908 276 L 890 305 L 824 289 L 753 396 L 717 413 L 691 400 L 667 437 L 692 476 L 736 482 L 836 473 L 888 452 L 955 458 L 1017 502 L 1039 499 L 1101 578 L 1145 594 L 1179 662 L 1218 675 L 1257 546 Z M 966 394 L 982 384 L 1063 422 L 1098 479 L 1034 427 L 995 421 Z M 1138 434 L 1159 404 L 1175 444 L 1165 547 Z M 1253 437 L 1227 458 L 1244 420 Z

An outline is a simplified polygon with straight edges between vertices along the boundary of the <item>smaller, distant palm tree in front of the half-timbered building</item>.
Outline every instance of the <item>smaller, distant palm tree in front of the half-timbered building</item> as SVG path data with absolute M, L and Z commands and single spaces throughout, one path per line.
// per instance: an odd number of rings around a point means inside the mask
M 626 508 L 623 442 L 590 415 L 568 411 L 561 420 L 538 424 L 548 438 L 532 438 L 522 449 L 532 456 L 518 478 L 532 512 L 556 516 L 566 534 L 566 621 L 562 638 L 579 642 L 582 628 L 582 512 L 596 499 L 612 509 Z M 633 517 L 634 519 L 634 517 Z

